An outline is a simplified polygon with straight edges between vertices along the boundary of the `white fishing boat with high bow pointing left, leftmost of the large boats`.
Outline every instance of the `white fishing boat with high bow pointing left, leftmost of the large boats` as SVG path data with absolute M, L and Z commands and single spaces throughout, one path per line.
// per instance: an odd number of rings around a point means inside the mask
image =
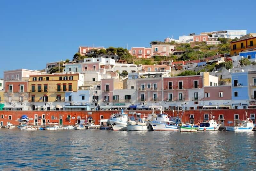
M 113 130 L 127 130 L 128 115 L 124 113 L 123 109 L 121 114 L 113 114 L 108 120 L 108 124 Z

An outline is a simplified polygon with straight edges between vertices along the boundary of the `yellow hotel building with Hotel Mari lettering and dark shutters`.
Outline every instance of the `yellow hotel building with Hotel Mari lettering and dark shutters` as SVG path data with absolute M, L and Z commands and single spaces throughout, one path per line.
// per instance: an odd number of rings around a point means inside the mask
M 65 92 L 77 91 L 83 85 L 82 74 L 30 75 L 30 102 L 64 102 Z

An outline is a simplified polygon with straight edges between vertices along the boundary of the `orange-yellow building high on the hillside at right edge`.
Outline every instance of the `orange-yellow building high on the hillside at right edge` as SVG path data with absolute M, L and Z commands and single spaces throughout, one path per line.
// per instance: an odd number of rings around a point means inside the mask
M 230 42 L 230 55 L 238 55 L 239 52 L 251 50 L 256 48 L 256 37 L 249 37 L 247 39 Z

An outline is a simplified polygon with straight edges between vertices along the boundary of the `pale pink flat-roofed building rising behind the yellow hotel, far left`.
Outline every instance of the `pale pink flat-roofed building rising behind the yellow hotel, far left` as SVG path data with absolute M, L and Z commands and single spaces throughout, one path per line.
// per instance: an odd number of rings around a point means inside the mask
M 43 75 L 45 72 L 33 71 L 28 69 L 16 69 L 4 71 L 4 80 L 28 80 L 29 75 Z

